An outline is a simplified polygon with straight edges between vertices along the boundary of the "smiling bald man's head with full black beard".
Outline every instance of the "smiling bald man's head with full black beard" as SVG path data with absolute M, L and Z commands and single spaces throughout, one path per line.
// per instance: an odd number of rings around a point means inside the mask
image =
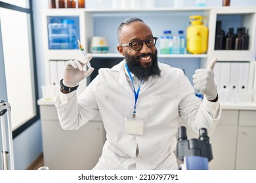
M 126 44 L 133 41 L 142 41 L 153 37 L 148 25 L 143 22 L 132 22 L 125 25 L 119 35 L 119 43 Z M 140 50 L 133 50 L 131 46 L 117 46 L 120 54 L 125 56 L 127 66 L 131 73 L 139 79 L 148 80 L 150 76 L 160 76 L 156 46 L 148 48 L 143 42 Z

